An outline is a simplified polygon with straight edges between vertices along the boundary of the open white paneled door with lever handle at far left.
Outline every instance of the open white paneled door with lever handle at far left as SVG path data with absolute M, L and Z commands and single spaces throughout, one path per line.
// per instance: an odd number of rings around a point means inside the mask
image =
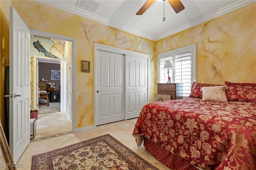
M 18 161 L 30 142 L 30 30 L 10 6 L 10 152 Z

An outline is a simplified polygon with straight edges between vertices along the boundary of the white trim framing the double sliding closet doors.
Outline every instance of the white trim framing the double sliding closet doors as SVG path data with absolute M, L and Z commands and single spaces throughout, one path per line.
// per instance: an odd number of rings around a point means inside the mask
M 143 57 L 147 57 L 148 59 L 148 85 L 149 85 L 149 55 L 148 54 L 144 54 L 144 53 L 139 53 L 139 52 L 135 52 L 135 51 L 130 51 L 130 50 L 126 50 L 126 49 L 121 49 L 118 47 L 112 47 L 109 45 L 104 45 L 104 44 L 100 44 L 100 43 L 94 43 L 94 128 L 96 128 L 96 119 L 97 119 L 97 115 L 96 115 L 96 57 L 97 57 L 97 50 L 103 50 L 103 51 L 109 51 L 112 53 L 119 53 L 119 54 L 123 54 L 123 55 L 137 55 L 137 56 L 143 56 Z M 149 88 L 147 86 L 147 93 L 150 94 L 149 92 Z M 149 102 L 149 96 L 148 96 L 148 101 Z

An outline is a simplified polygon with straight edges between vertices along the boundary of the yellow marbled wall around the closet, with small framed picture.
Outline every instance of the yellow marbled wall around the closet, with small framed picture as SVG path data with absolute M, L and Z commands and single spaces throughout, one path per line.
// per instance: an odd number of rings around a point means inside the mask
M 29 28 L 76 38 L 76 128 L 94 125 L 94 43 L 150 55 L 150 100 L 154 99 L 154 41 L 58 10 L 36 1 L 12 1 Z M 91 63 L 90 73 L 81 72 L 81 60 Z

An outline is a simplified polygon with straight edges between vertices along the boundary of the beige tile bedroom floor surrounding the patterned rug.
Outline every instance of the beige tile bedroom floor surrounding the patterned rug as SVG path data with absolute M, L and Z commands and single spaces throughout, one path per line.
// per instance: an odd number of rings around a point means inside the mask
M 40 119 L 40 117 L 38 117 L 38 119 Z M 125 146 L 133 150 L 135 153 L 140 155 L 142 158 L 144 158 L 145 160 L 147 160 L 160 170 L 168 170 L 169 168 L 164 166 L 162 163 L 158 162 L 158 160 L 156 160 L 151 154 L 149 154 L 149 152 L 144 148 L 144 146 L 137 147 L 135 139 L 132 136 L 132 131 L 135 123 L 136 118 L 127 121 L 124 120 L 115 123 L 109 123 L 106 125 L 100 125 L 97 126 L 95 129 L 89 129 L 41 141 L 30 142 L 28 147 L 18 160 L 18 163 L 22 163 L 23 167 L 17 168 L 17 170 L 30 170 L 32 155 L 34 154 L 48 152 L 50 150 L 72 145 L 74 143 L 78 143 L 80 141 L 84 141 L 105 134 L 112 135 L 118 141 L 123 143 Z M 63 127 L 54 127 L 55 130 L 57 130 L 57 128 L 62 129 Z

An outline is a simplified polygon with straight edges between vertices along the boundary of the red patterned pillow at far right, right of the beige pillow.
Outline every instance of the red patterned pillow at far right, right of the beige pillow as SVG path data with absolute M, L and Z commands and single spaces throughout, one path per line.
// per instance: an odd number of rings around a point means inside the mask
M 228 101 L 256 103 L 256 83 L 225 82 L 225 84 Z

